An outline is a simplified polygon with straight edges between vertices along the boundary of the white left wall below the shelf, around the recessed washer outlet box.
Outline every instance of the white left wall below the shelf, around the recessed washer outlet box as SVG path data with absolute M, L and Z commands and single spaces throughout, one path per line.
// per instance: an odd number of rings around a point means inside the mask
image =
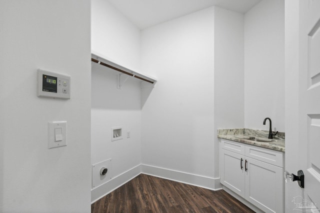
M 117 89 L 117 73 L 103 66 L 92 66 L 91 160 L 112 158 L 113 176 L 140 164 L 141 104 L 140 87 L 128 79 Z M 123 126 L 123 139 L 111 141 L 111 127 Z M 130 138 L 126 131 L 130 130 Z

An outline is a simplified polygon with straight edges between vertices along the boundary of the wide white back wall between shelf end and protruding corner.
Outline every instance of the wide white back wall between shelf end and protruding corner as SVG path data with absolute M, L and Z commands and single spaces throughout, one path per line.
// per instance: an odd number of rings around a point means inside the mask
M 141 36 L 143 72 L 158 77 L 142 107 L 142 163 L 213 177 L 214 7 Z

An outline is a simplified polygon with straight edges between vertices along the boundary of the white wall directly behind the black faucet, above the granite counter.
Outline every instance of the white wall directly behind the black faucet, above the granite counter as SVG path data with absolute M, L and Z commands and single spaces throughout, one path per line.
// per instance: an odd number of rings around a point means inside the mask
M 284 0 L 262 0 L 244 15 L 244 127 L 284 131 Z

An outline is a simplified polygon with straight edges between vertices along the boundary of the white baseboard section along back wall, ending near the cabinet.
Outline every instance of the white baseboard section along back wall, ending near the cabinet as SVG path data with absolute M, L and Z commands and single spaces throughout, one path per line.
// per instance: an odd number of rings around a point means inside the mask
M 220 178 L 201 176 L 197 174 L 191 174 L 187 172 L 161 168 L 146 164 L 141 164 L 141 173 L 173 180 L 176 182 L 182 182 L 185 184 L 194 185 L 214 191 L 222 189 L 222 186 L 220 184 Z

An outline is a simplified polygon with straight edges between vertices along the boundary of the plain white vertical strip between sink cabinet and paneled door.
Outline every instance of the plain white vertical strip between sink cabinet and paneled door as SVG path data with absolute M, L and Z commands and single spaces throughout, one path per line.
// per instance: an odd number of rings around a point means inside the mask
M 299 170 L 299 0 L 284 0 L 285 55 L 285 160 L 284 169 Z M 294 208 L 292 199 L 303 196 L 296 182 L 284 183 L 285 212 Z

